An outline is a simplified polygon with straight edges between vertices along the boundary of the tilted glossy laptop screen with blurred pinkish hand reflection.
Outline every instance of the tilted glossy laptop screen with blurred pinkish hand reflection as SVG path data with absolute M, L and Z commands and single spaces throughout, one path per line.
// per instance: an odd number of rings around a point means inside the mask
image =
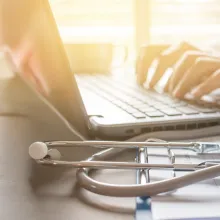
M 1 3 L 0 41 L 16 71 L 84 136 L 88 120 L 47 0 Z

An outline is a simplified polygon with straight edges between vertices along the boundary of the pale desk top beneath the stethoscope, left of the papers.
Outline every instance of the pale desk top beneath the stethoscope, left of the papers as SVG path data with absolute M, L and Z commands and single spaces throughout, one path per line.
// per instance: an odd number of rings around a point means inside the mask
M 28 146 L 35 140 L 50 138 L 45 129 L 26 118 L 0 117 L 0 216 L 1 219 L 133 219 L 133 214 L 111 213 L 84 204 L 76 198 L 75 170 L 42 167 L 29 158 Z M 52 138 L 52 137 L 51 137 Z M 59 138 L 59 136 L 58 136 Z M 72 150 L 70 150 L 72 151 Z M 70 151 L 63 154 L 71 155 Z M 74 152 L 75 153 L 75 152 Z M 92 153 L 87 151 L 87 153 Z M 85 155 L 78 150 L 73 159 Z M 81 155 L 81 156 L 80 156 Z M 69 158 L 72 156 L 69 156 Z M 123 176 L 123 177 L 122 177 Z M 119 178 L 121 177 L 121 178 Z M 109 171 L 98 178 L 109 182 L 132 182 L 135 175 Z M 118 179 L 119 178 L 119 179 Z M 117 180 L 116 180 L 117 179 Z M 85 193 L 97 204 L 134 207 L 134 199 L 116 199 Z

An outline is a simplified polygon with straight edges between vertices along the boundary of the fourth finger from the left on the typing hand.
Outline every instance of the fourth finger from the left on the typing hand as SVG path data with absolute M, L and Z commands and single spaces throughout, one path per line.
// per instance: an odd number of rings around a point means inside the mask
M 204 77 L 220 68 L 220 60 L 210 57 L 198 58 L 195 64 L 186 72 L 178 83 L 173 95 L 183 98 L 193 87 L 200 84 Z

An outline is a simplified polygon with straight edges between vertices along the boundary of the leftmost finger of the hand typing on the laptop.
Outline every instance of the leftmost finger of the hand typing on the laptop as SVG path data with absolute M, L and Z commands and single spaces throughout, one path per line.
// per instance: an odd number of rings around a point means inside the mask
M 138 84 L 141 85 L 146 81 L 153 60 L 168 47 L 169 45 L 147 45 L 140 48 L 136 63 L 136 80 Z

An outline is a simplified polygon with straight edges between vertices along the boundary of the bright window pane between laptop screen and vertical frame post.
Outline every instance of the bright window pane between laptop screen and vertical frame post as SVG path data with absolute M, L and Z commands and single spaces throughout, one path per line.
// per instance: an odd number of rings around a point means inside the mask
M 134 44 L 133 0 L 50 0 L 62 39 Z

